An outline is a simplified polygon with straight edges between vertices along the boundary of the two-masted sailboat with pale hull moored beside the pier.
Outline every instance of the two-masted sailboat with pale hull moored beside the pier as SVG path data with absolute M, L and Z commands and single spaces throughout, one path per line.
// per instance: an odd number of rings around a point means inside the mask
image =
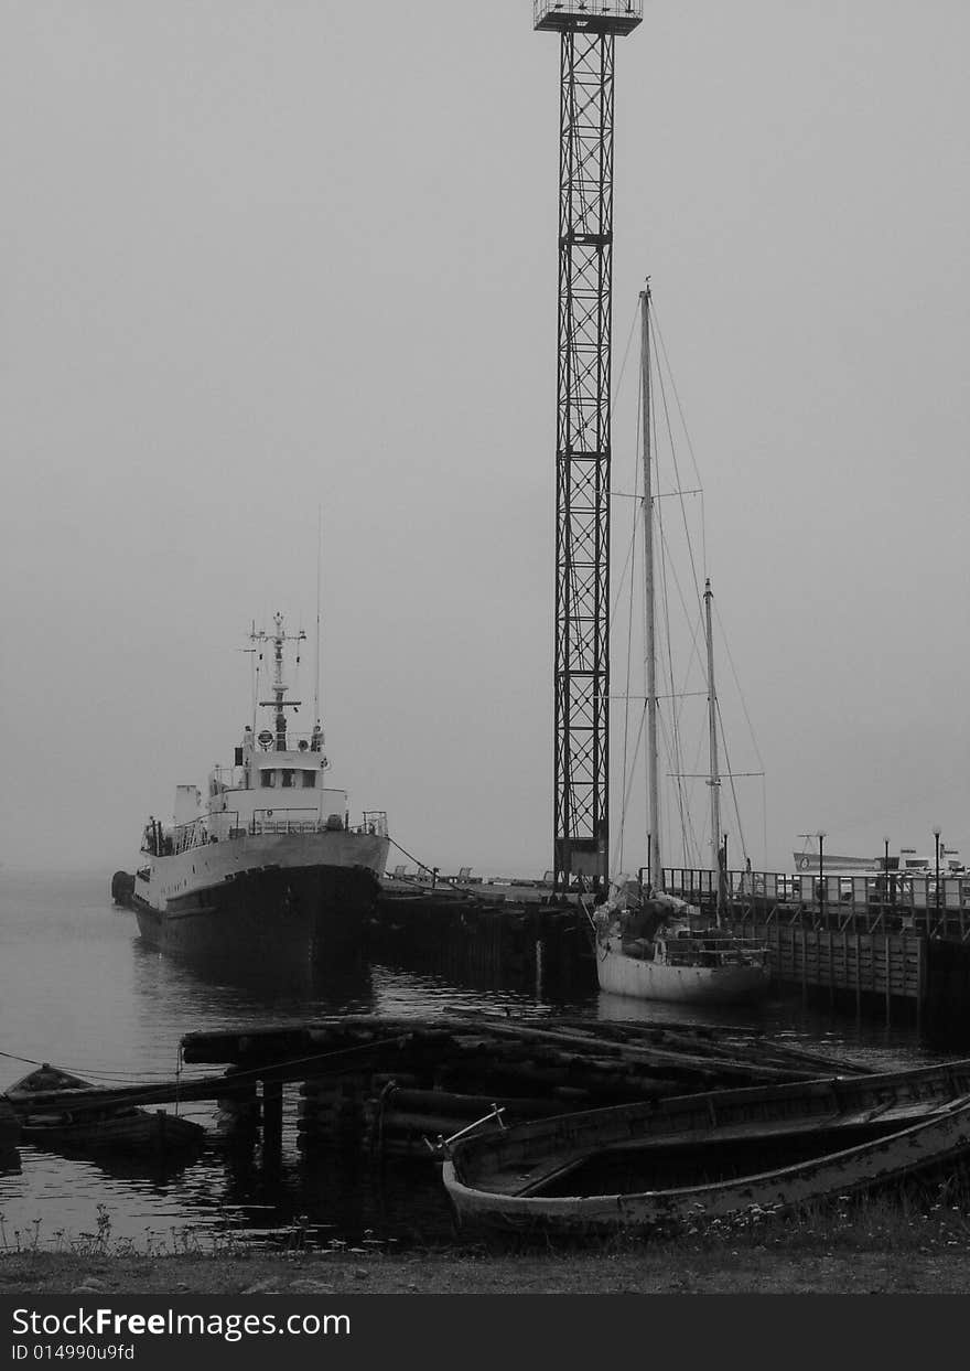
M 721 775 L 718 760 L 718 709 L 714 686 L 712 591 L 704 588 L 707 644 L 708 749 L 711 790 L 711 846 L 717 850 L 718 905 L 712 927 L 704 927 L 700 910 L 663 890 L 660 851 L 660 783 L 658 721 L 658 647 L 655 605 L 655 494 L 651 452 L 651 293 L 640 293 L 641 403 L 644 524 L 644 653 L 647 666 L 647 781 L 648 781 L 648 882 L 641 875 L 614 879 L 608 895 L 590 914 L 596 972 L 601 990 L 636 999 L 681 1004 L 725 1004 L 756 998 L 767 990 L 767 950 L 722 925 L 726 845 L 721 847 Z

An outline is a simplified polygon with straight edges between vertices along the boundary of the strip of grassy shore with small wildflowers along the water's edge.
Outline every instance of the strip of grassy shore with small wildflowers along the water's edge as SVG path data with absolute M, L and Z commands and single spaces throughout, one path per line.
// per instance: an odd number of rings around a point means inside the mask
M 917 1235 L 914 1234 L 914 1239 Z M 970 1245 L 819 1231 L 623 1249 L 242 1253 L 0 1250 L 0 1297 L 351 1294 L 966 1294 Z

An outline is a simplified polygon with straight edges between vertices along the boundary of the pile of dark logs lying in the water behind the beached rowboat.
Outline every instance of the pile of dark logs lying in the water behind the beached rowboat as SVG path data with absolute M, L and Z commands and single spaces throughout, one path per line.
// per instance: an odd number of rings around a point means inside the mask
M 186 1034 L 186 1065 L 222 1072 L 145 1086 L 47 1091 L 51 1109 L 210 1100 L 229 1130 L 262 1128 L 263 1157 L 282 1148 L 285 1087 L 299 1087 L 304 1153 L 440 1156 L 441 1142 L 484 1127 L 732 1086 L 852 1075 L 865 1068 L 754 1030 L 500 1016 L 341 1015 L 308 1023 Z M 34 1106 L 40 1097 L 34 1098 Z

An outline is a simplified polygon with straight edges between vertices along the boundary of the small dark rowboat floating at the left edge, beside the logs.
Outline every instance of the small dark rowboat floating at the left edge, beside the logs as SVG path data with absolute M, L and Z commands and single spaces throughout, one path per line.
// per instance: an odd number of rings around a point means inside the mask
M 197 1148 L 206 1130 L 164 1109 L 90 1104 L 92 1084 L 47 1063 L 5 1094 L 19 1116 L 21 1141 L 53 1152 L 164 1154 Z M 71 1093 L 78 1091 L 77 1100 Z

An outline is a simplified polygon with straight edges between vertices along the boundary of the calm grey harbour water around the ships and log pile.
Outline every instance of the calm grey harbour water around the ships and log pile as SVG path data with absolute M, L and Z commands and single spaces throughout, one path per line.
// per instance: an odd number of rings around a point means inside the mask
M 170 1079 L 179 1068 L 179 1041 L 203 1028 L 269 1024 L 340 1010 L 430 1015 L 436 1009 L 512 1008 L 608 1019 L 749 1023 L 788 1041 L 873 1069 L 933 1060 L 908 1030 L 806 1010 L 800 998 L 778 998 L 756 1010 L 684 1009 L 637 1004 L 596 990 L 556 998 L 549 984 L 482 987 L 458 979 L 371 965 L 343 978 L 285 973 L 203 976 L 142 945 L 134 916 L 110 897 L 111 873 L 32 875 L 0 871 L 0 1091 L 51 1061 L 93 1082 Z M 480 978 L 481 979 L 481 978 Z M 754 1016 L 754 1017 L 752 1017 Z M 218 1069 L 197 1068 L 200 1073 Z M 185 1068 L 186 1075 L 195 1068 Z M 212 1106 L 184 1112 L 212 1121 Z M 0 1171 L 0 1245 L 15 1230 L 38 1231 L 49 1245 L 93 1233 L 99 1205 L 112 1238 L 140 1250 L 186 1242 L 207 1246 L 227 1233 L 285 1241 L 297 1216 L 311 1222 L 316 1242 L 359 1242 L 370 1235 L 407 1243 L 447 1241 L 451 1222 L 437 1171 L 414 1164 L 378 1178 L 360 1163 L 353 1174 L 334 1164 L 303 1164 L 296 1148 L 296 1093 L 288 1087 L 284 1163 L 267 1175 L 251 1157 L 216 1148 L 166 1175 L 75 1161 L 19 1149 L 21 1169 Z M 37 1228 L 37 1226 L 40 1226 Z

